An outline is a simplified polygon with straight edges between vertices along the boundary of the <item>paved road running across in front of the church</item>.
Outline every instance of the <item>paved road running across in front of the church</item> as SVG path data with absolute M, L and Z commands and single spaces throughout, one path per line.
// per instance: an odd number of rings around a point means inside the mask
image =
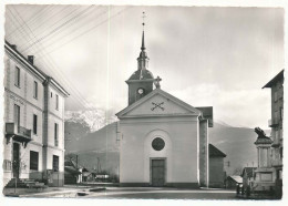
M 119 187 L 104 192 L 89 193 L 85 198 L 133 198 L 133 199 L 237 199 L 235 190 L 226 189 L 175 189 L 150 187 Z

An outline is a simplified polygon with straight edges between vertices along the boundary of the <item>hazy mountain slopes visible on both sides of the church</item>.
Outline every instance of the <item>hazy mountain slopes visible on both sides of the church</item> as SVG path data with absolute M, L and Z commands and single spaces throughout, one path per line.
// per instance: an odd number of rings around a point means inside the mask
M 70 115 L 65 121 L 66 153 L 79 155 L 79 163 L 88 168 L 97 167 L 119 174 L 119 143 L 116 141 L 116 122 L 107 124 L 100 121 L 85 122 L 85 113 Z M 97 116 L 89 114 L 91 119 Z M 115 120 L 115 119 L 110 119 Z M 93 123 L 92 123 L 93 122 Z M 97 125 L 101 127 L 95 131 Z M 93 127 L 93 128 L 92 128 Z M 266 131 L 268 134 L 268 132 Z M 254 128 L 234 127 L 224 122 L 214 122 L 209 128 L 208 142 L 224 152 L 225 169 L 228 175 L 235 174 L 245 166 L 256 166 L 257 150 L 254 142 L 257 134 Z M 97 162 L 100 161 L 100 163 Z M 248 165 L 247 165 L 248 164 Z

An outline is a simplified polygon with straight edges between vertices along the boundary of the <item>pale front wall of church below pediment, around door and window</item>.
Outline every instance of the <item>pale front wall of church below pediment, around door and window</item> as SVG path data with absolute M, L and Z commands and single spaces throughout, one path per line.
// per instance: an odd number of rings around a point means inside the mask
M 150 159 L 165 157 L 167 184 L 198 185 L 196 116 L 122 120 L 120 127 L 121 183 L 151 184 Z M 160 152 L 151 145 L 157 136 L 165 141 L 165 147 Z

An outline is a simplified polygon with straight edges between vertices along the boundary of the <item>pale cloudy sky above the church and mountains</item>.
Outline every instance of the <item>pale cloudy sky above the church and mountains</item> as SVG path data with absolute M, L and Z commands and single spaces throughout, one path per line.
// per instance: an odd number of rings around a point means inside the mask
M 284 9 L 225 7 L 6 7 L 6 40 L 71 94 L 68 111 L 127 106 L 146 14 L 148 70 L 161 87 L 214 120 L 268 128 L 270 90 L 284 69 Z

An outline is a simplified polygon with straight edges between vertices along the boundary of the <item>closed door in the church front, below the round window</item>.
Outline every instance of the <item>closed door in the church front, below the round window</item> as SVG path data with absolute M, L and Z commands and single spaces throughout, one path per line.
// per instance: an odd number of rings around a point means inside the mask
M 152 186 L 162 187 L 165 184 L 165 159 L 152 159 Z

